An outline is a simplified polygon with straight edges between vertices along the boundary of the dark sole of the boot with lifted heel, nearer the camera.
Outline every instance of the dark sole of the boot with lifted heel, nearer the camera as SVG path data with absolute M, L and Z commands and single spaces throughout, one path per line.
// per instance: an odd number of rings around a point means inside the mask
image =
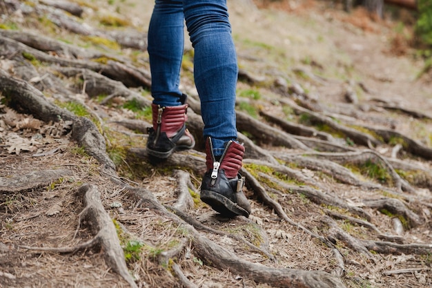
M 203 190 L 201 191 L 200 198 L 202 202 L 210 205 L 213 210 L 225 217 L 234 218 L 238 215 L 243 215 L 246 218 L 249 217 L 248 211 L 214 191 Z

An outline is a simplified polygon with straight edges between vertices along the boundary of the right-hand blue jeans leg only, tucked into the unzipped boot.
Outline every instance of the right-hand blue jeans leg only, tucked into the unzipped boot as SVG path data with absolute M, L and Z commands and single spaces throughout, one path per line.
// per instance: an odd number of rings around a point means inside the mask
M 184 17 L 195 48 L 195 86 L 201 100 L 204 137 L 212 137 L 215 155 L 237 138 L 235 90 L 237 55 L 225 0 L 184 0 Z

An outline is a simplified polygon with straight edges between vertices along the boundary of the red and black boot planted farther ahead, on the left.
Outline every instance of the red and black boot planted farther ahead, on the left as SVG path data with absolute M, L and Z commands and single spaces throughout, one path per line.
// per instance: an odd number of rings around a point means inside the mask
M 195 146 L 195 139 L 186 128 L 188 119 L 186 95 L 180 106 L 152 104 L 153 127 L 147 128 L 147 153 L 157 159 L 166 159 L 174 151 L 190 149 Z

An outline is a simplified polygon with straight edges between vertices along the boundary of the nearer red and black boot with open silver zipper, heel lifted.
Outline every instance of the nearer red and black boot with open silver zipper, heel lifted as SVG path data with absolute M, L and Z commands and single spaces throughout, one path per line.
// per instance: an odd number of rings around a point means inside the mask
M 233 218 L 251 214 L 249 204 L 243 193 L 244 177 L 240 175 L 244 146 L 235 141 L 225 143 L 222 156 L 217 159 L 213 154 L 210 137 L 206 140 L 206 166 L 201 185 L 201 200 L 221 215 Z

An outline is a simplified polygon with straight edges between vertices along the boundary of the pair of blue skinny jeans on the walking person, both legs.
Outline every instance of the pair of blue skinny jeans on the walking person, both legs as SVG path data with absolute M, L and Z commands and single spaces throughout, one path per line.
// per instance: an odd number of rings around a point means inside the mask
M 226 0 L 156 0 L 148 28 L 153 103 L 179 105 L 184 20 L 195 49 L 194 79 L 201 100 L 204 137 L 215 155 L 237 138 L 235 89 L 237 55 Z

